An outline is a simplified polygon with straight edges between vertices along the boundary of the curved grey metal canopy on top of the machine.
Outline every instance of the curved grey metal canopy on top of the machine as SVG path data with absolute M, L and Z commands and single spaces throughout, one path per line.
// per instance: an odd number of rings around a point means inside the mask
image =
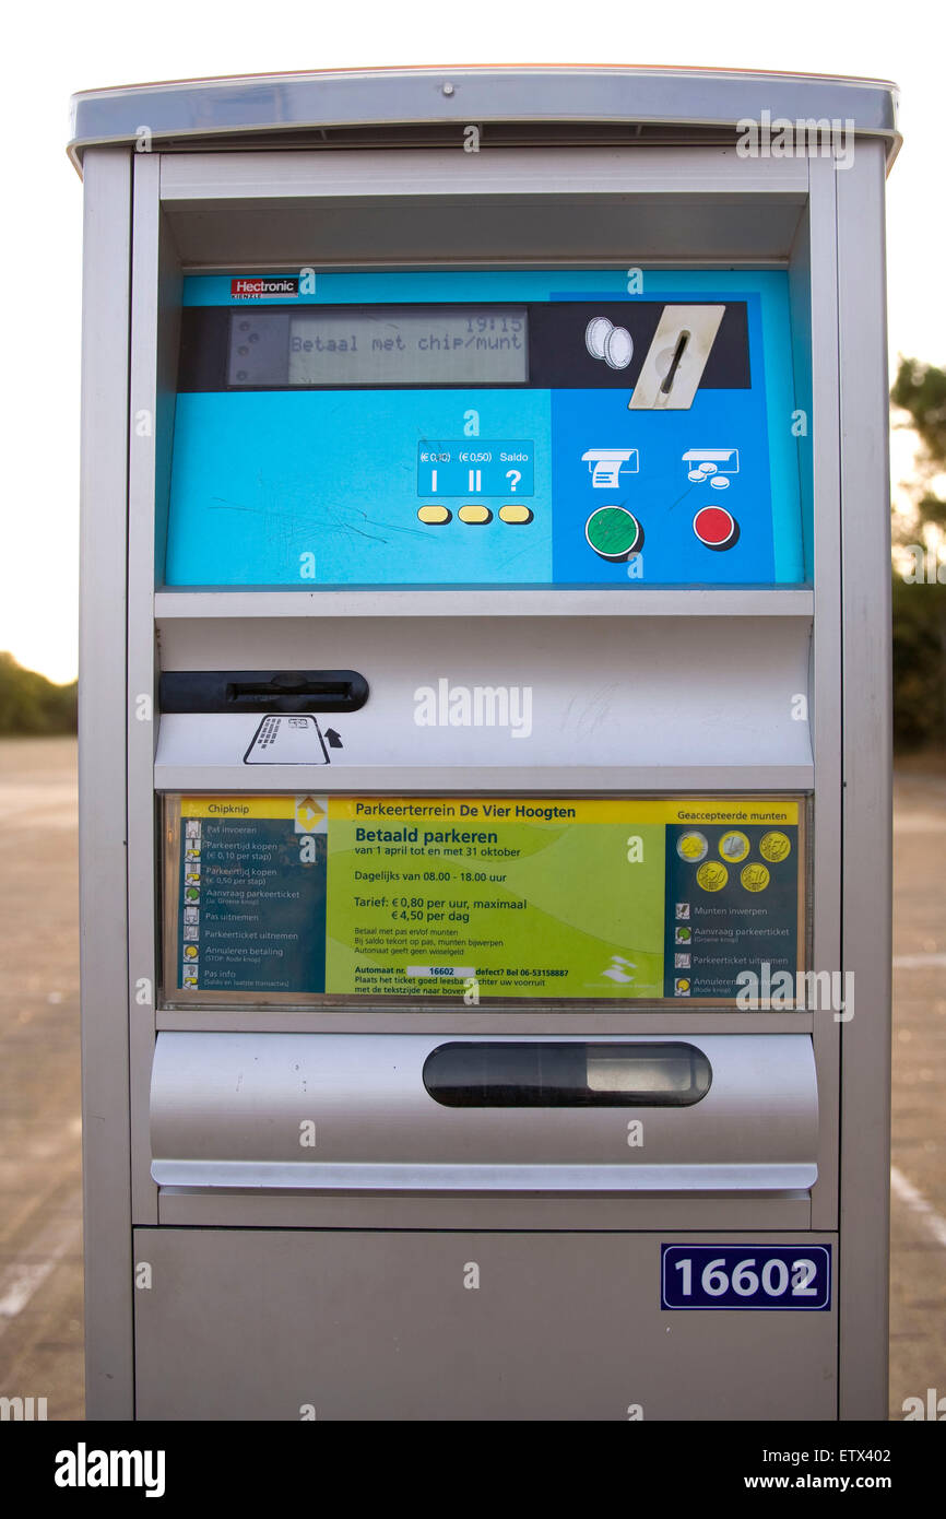
M 425 67 L 248 74 L 85 90 L 68 152 L 132 144 L 440 146 L 475 122 L 490 146 L 730 141 L 747 122 L 838 123 L 899 146 L 888 81 L 825 74 L 610 65 Z M 449 137 L 445 134 L 449 132 Z M 393 138 L 392 138 L 393 134 Z M 381 146 L 378 143 L 378 146 Z

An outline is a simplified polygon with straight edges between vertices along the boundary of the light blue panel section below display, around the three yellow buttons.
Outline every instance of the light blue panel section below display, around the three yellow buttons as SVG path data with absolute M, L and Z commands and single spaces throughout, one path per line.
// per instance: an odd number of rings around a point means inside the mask
M 418 519 L 425 439 L 489 439 L 536 459 L 533 521 Z M 475 439 L 468 439 L 475 447 Z M 510 585 L 551 580 L 547 390 L 305 390 L 178 396 L 167 585 Z M 314 556 L 314 576 L 308 574 Z

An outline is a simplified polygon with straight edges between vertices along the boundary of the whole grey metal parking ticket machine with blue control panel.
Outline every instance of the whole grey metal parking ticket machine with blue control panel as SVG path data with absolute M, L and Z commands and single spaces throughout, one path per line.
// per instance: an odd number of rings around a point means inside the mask
M 893 112 L 76 97 L 91 1417 L 885 1416 Z

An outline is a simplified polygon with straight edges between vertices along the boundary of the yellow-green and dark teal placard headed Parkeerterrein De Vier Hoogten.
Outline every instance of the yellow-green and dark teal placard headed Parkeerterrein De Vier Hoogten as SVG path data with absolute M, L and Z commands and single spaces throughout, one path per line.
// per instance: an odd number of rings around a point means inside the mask
M 733 1001 L 802 968 L 797 797 L 170 805 L 182 1000 Z

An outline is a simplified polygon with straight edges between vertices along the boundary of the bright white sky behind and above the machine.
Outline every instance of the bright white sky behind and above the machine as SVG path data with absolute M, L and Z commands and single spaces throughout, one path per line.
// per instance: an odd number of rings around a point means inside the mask
M 935 15 L 940 21 L 935 21 Z M 146 81 L 410 64 L 665 64 L 893 79 L 905 144 L 888 181 L 888 322 L 899 352 L 946 363 L 941 8 L 879 0 L 711 6 L 623 0 L 264 6 L 128 0 L 18 8 L 3 82 L 6 293 L 0 650 L 76 673 L 82 188 L 68 96 Z M 938 35 L 937 35 L 938 33 Z M 894 434 L 894 483 L 910 469 Z

